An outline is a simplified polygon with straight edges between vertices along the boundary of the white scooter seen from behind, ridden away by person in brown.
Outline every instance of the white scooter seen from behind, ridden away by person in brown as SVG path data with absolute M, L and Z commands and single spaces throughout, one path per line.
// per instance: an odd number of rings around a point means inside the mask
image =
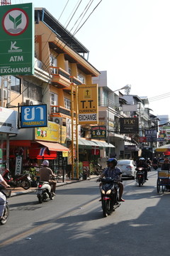
M 51 192 L 51 186 L 49 182 L 39 181 L 37 187 L 37 197 L 39 203 L 45 202 L 47 199 L 54 199 L 54 194 Z

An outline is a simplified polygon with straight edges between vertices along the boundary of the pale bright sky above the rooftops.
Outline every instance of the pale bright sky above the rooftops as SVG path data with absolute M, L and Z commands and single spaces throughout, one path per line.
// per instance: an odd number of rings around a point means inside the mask
M 107 70 L 108 87 L 131 85 L 130 94 L 148 97 L 152 114 L 170 118 L 169 0 L 11 0 L 30 2 L 71 33 L 86 21 L 75 37 L 89 50 L 91 65 Z

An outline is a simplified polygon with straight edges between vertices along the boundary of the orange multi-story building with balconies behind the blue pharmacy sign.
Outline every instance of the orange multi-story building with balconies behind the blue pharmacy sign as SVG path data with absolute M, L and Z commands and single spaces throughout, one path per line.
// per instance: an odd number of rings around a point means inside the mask
M 21 105 L 45 104 L 48 127 L 19 129 L 17 136 L 10 138 L 11 159 L 15 159 L 22 148 L 23 159 L 52 159 L 54 166 L 62 166 L 61 152 L 70 148 L 70 120 L 75 119 L 76 87 L 91 85 L 92 77 L 99 75 L 89 63 L 88 56 L 89 50 L 46 9 L 35 9 L 34 75 L 3 78 L 1 93 L 4 90 L 8 96 L 1 98 L 1 105 L 17 110 L 16 107 Z M 84 131 L 84 137 L 87 137 L 89 127 Z M 89 143 L 80 142 L 85 148 Z M 42 148 L 45 148 L 43 154 L 40 153 Z M 70 150 L 68 164 L 72 164 Z

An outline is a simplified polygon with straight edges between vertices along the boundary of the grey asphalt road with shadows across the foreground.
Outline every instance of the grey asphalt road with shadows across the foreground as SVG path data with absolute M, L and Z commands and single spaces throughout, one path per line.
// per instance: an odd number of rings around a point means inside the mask
M 96 179 L 58 186 L 55 200 L 41 205 L 35 192 L 9 198 L 1 253 L 169 255 L 169 192 L 157 193 L 157 171 L 150 171 L 141 187 L 124 179 L 125 202 L 108 218 L 103 218 Z

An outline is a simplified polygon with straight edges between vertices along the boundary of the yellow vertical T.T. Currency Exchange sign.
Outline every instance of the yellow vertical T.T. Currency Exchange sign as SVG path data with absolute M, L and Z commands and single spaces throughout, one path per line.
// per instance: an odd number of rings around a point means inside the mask
M 79 124 L 98 124 L 98 85 L 78 86 Z

